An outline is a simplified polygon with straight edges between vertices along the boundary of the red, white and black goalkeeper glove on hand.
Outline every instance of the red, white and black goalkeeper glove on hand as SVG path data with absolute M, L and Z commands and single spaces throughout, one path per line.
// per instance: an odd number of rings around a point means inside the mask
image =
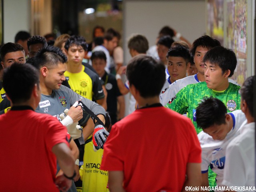
M 109 132 L 99 122 L 95 123 L 94 132 L 92 134 L 92 142 L 94 151 L 103 149 L 103 145 L 108 138 Z

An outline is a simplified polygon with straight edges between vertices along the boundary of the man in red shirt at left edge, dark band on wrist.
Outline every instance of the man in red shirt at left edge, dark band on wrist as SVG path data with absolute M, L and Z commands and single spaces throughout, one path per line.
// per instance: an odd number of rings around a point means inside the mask
M 66 127 L 50 115 L 34 112 L 41 96 L 38 71 L 30 65 L 13 64 L 4 72 L 3 85 L 12 108 L 0 116 L 1 145 L 8 146 L 0 152 L 1 190 L 58 192 L 57 185 L 67 191 L 76 175 L 74 158 Z M 56 158 L 64 172 L 57 178 Z M 17 166 L 7 166 L 10 159 Z M 15 181 L 10 179 L 13 174 Z

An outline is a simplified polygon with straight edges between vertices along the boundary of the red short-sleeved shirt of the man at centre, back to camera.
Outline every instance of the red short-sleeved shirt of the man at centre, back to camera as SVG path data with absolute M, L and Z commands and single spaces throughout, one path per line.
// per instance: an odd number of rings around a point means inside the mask
M 181 191 L 188 162 L 201 162 L 192 122 L 164 107 L 138 109 L 112 126 L 100 169 L 124 171 L 126 191 Z

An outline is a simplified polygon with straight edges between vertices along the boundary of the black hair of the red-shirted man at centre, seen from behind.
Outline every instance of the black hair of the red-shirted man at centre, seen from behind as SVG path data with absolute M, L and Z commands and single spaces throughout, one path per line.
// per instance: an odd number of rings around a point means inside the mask
M 126 76 L 130 86 L 134 85 L 143 98 L 159 95 L 166 81 L 164 65 L 146 55 L 137 55 L 130 60 Z

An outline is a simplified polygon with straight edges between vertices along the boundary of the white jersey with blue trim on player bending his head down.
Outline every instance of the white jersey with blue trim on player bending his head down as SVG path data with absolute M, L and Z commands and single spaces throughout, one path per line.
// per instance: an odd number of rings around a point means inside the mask
M 214 140 L 204 131 L 198 134 L 198 140 L 202 148 L 201 172 L 208 172 L 208 167 L 210 165 L 212 171 L 217 174 L 216 183 L 219 186 L 222 184 L 223 180 L 226 148 L 229 142 L 239 135 L 240 127 L 247 122 L 246 117 L 241 110 L 236 110 L 228 114 L 232 117 L 233 128 L 228 132 L 224 140 Z

